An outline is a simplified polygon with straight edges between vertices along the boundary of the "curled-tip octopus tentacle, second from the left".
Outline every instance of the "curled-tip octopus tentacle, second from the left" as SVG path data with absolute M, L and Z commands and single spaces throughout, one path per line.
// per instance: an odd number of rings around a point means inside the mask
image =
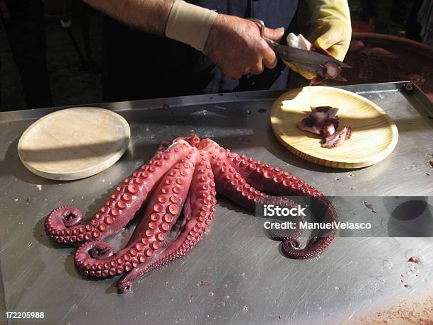
M 190 147 L 185 158 L 163 174 L 125 249 L 115 254 L 95 256 L 95 245 L 105 247 L 109 244 L 91 241 L 76 251 L 75 264 L 81 273 L 92 277 L 122 274 L 137 268 L 140 263 L 144 263 L 161 249 L 161 243 L 166 240 L 167 234 L 182 212 L 197 155 L 197 149 Z M 98 272 L 99 270 L 101 272 Z

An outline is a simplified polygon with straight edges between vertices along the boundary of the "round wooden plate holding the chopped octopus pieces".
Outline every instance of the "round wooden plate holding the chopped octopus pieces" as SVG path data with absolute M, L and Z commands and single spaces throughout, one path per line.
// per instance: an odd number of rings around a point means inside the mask
M 352 127 L 352 137 L 342 147 L 321 147 L 321 138 L 296 126 L 311 106 L 339 108 L 340 127 Z M 385 159 L 396 147 L 398 130 L 393 120 L 368 99 L 342 89 L 308 86 L 277 98 L 271 110 L 272 130 L 294 154 L 323 166 L 354 169 Z

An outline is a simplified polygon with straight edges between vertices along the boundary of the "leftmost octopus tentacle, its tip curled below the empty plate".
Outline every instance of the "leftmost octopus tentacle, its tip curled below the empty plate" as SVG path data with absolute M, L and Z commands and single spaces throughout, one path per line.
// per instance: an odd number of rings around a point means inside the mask
M 78 209 L 59 207 L 45 220 L 45 232 L 54 241 L 70 245 L 104 239 L 119 232 L 134 217 L 161 176 L 191 148 L 183 140 L 173 142 L 171 147 L 166 145 L 161 144 L 149 164 L 142 165 L 123 185 L 117 186 L 110 200 L 92 219 L 81 223 L 83 215 Z

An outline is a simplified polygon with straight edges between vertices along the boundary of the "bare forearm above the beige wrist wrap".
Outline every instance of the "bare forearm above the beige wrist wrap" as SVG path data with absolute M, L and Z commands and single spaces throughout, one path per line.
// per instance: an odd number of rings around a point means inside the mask
M 90 6 L 127 25 L 164 35 L 175 0 L 83 0 Z

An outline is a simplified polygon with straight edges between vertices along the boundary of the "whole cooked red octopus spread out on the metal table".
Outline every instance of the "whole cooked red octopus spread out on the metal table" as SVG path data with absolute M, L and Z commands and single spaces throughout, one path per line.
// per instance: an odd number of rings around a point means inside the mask
M 214 217 L 217 193 L 251 211 L 260 200 L 298 206 L 276 195 L 314 198 L 325 215 L 322 222 L 337 220 L 328 198 L 299 177 L 190 135 L 162 142 L 149 163 L 117 186 L 91 219 L 83 220 L 76 207 L 58 207 L 45 219 L 45 231 L 59 244 L 78 246 L 74 263 L 82 275 L 124 275 L 117 288 L 128 292 L 134 280 L 184 256 L 202 239 Z M 139 223 L 128 244 L 115 252 L 105 239 L 135 215 Z M 304 245 L 296 229 L 281 239 L 282 251 L 289 258 L 311 258 L 330 245 L 335 232 L 322 231 Z

